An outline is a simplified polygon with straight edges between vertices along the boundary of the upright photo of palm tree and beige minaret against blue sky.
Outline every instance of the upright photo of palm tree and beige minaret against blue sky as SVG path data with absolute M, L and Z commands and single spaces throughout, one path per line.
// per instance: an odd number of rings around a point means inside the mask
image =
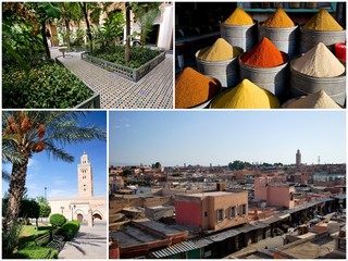
M 107 259 L 107 112 L 2 112 L 2 259 Z

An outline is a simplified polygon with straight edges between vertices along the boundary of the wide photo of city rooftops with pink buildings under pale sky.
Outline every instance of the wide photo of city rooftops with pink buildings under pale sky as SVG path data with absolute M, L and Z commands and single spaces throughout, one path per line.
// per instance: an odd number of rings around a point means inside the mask
M 345 259 L 346 113 L 111 111 L 110 259 Z

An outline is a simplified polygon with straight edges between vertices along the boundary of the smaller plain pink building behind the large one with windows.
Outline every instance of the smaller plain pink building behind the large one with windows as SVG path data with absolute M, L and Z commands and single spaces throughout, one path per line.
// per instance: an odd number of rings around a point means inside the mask
M 277 177 L 254 178 L 254 199 L 264 200 L 268 206 L 293 209 L 295 187 L 278 182 Z

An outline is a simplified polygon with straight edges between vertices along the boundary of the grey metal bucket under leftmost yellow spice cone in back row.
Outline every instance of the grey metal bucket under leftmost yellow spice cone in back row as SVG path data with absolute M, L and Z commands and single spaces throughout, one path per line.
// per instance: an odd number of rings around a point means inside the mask
M 249 51 L 257 41 L 257 23 L 252 25 L 228 25 L 220 24 L 221 37 L 233 47 L 240 47 L 244 51 Z

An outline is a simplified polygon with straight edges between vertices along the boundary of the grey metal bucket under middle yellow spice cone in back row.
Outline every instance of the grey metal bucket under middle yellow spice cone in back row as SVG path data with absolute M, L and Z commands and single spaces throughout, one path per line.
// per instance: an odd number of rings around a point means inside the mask
M 297 54 L 298 25 L 286 28 L 263 27 L 258 24 L 259 41 L 269 38 L 279 51 L 286 52 L 290 58 Z

